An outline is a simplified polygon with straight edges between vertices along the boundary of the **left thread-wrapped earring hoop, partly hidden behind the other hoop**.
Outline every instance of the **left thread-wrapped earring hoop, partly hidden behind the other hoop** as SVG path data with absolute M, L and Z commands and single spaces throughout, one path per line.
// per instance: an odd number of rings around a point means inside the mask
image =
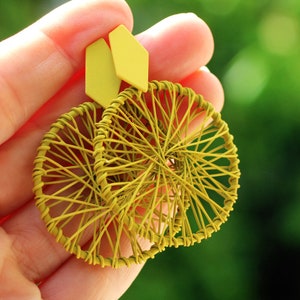
M 67 251 L 90 264 L 128 266 L 162 251 L 128 228 L 102 199 L 94 175 L 93 139 L 103 109 L 84 103 L 45 134 L 34 161 L 36 205 Z

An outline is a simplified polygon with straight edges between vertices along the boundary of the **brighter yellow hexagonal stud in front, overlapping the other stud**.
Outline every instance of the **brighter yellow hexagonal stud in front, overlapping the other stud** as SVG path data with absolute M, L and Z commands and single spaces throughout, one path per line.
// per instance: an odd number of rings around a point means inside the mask
M 124 25 L 118 26 L 109 34 L 109 42 L 117 76 L 146 92 L 149 61 L 147 50 Z

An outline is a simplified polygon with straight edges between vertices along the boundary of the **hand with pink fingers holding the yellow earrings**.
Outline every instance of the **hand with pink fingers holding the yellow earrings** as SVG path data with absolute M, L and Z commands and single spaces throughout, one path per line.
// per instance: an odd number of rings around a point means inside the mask
M 47 232 L 32 194 L 32 162 L 43 134 L 88 100 L 85 47 L 119 24 L 133 26 L 125 1 L 74 0 L 0 43 L 0 299 L 118 299 L 143 267 L 77 260 Z M 192 87 L 221 110 L 222 86 L 202 68 L 214 46 L 201 19 L 174 15 L 137 39 L 150 54 L 150 79 Z

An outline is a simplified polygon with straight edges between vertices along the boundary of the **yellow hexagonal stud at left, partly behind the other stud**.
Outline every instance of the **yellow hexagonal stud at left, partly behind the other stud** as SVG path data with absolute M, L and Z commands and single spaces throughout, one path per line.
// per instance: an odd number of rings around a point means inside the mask
M 106 108 L 119 93 L 121 79 L 116 75 L 111 51 L 104 39 L 86 49 L 85 93 Z

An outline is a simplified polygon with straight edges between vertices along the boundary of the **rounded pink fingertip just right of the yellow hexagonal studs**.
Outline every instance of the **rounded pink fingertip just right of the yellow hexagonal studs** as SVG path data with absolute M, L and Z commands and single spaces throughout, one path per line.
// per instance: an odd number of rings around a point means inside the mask
M 213 55 L 214 41 L 208 25 L 194 13 L 163 19 L 137 35 L 150 55 L 150 78 L 180 79 L 206 65 Z

